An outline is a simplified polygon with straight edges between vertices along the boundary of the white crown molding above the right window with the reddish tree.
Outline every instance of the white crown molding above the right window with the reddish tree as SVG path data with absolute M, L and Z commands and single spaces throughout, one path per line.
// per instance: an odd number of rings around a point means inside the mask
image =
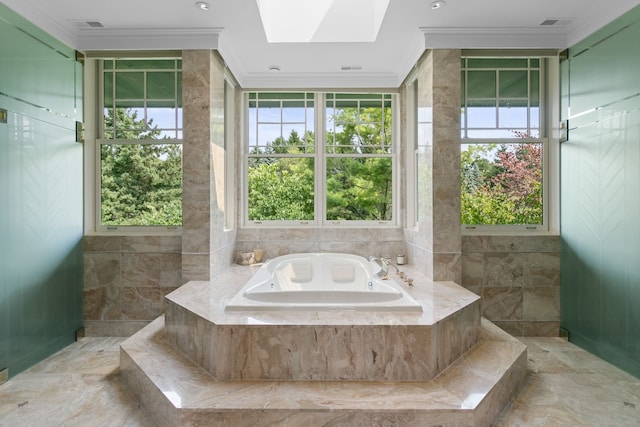
M 420 31 L 427 49 L 567 47 L 567 37 L 562 29 L 420 27 Z

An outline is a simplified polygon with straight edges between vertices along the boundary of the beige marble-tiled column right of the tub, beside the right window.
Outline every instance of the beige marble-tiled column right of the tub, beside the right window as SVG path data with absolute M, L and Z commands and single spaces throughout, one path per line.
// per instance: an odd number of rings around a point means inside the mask
M 417 67 L 418 224 L 408 248 L 429 278 L 459 283 L 460 50 L 429 50 Z

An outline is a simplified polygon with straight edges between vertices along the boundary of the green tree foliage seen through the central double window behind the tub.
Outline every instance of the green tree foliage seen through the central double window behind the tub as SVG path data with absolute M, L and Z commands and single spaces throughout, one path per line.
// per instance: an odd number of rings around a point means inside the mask
M 327 135 L 326 206 L 330 221 L 392 219 L 391 109 L 342 108 L 332 118 L 339 126 Z M 313 153 L 314 135 L 291 132 L 259 154 Z M 251 154 L 258 154 L 253 150 Z M 373 155 L 373 156 L 372 156 Z M 311 157 L 251 157 L 250 220 L 313 220 L 314 160 Z

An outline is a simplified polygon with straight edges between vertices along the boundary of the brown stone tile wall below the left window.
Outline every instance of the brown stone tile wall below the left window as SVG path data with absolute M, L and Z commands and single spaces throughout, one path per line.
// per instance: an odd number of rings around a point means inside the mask
M 129 336 L 164 313 L 184 283 L 181 250 L 180 236 L 85 236 L 85 334 Z

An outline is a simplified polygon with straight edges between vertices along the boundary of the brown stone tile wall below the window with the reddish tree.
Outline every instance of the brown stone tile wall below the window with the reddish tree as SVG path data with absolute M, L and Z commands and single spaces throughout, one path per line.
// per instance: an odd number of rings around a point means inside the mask
M 515 336 L 558 336 L 559 236 L 463 236 L 462 283 Z

